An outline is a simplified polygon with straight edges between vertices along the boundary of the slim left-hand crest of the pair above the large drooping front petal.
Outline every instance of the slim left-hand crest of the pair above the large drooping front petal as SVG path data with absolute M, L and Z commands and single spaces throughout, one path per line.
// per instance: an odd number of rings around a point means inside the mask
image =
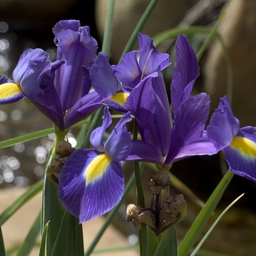
M 106 129 L 110 126 L 111 123 L 111 115 L 108 111 L 108 107 L 105 106 L 102 126 L 94 129 L 94 131 L 91 132 L 90 137 L 91 146 L 93 146 L 99 152 L 104 152 L 103 137 Z

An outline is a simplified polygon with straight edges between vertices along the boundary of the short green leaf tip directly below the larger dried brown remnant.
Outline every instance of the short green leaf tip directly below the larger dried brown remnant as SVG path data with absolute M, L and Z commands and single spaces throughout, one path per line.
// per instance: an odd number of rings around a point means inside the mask
M 178 255 L 178 245 L 176 236 L 176 227 L 171 227 L 165 233 L 165 236 L 159 242 L 157 250 L 154 256 L 177 256 Z

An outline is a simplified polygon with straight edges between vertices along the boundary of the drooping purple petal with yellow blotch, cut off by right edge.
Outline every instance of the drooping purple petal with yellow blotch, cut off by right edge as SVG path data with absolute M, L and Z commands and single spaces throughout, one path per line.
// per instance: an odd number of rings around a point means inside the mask
M 244 127 L 223 149 L 230 170 L 256 182 L 256 128 Z

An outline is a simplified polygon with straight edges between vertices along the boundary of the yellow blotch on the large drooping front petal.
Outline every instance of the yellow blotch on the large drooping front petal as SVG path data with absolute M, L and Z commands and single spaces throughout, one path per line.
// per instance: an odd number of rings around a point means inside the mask
M 108 154 L 100 154 L 98 157 L 95 157 L 91 163 L 86 168 L 86 183 L 93 181 L 95 178 L 102 176 L 111 162 Z

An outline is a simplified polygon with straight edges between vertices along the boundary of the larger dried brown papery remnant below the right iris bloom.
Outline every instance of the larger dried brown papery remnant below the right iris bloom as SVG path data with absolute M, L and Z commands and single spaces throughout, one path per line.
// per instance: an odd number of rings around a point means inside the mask
M 137 230 L 145 223 L 159 236 L 160 233 L 178 224 L 187 213 L 184 195 L 170 196 L 170 176 L 166 170 L 159 170 L 148 187 L 151 189 L 151 208 L 127 206 L 127 221 L 132 222 Z

